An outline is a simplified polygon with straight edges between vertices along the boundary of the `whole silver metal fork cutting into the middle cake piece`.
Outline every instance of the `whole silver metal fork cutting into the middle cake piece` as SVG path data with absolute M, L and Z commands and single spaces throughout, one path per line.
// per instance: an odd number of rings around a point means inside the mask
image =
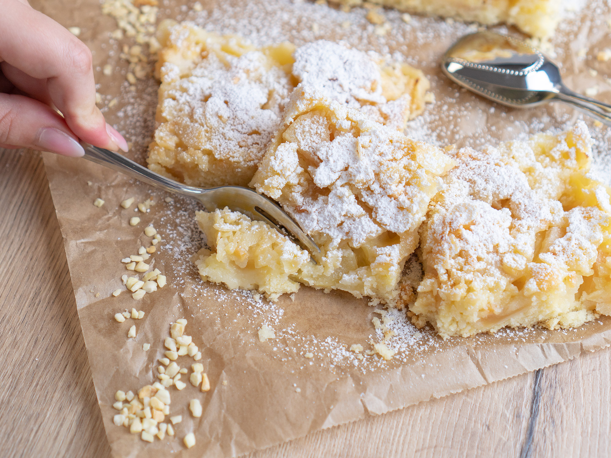
M 320 253 L 318 245 L 301 230 L 295 220 L 288 216 L 276 202 L 264 195 L 257 194 L 257 192 L 249 187 L 219 186 L 203 188 L 187 186 L 186 184 L 161 176 L 146 167 L 142 167 L 142 165 L 130 161 L 130 159 L 125 158 L 121 154 L 86 143 L 82 143 L 82 147 L 85 150 L 84 158 L 89 161 L 125 173 L 125 175 L 136 178 L 136 180 L 151 184 L 172 194 L 197 200 L 208 211 L 214 211 L 217 208 L 222 209 L 227 206 L 232 211 L 239 211 L 252 219 L 266 222 L 271 227 L 276 228 L 281 234 L 288 236 L 301 245 L 302 248 L 308 250 L 310 255 L 318 255 Z

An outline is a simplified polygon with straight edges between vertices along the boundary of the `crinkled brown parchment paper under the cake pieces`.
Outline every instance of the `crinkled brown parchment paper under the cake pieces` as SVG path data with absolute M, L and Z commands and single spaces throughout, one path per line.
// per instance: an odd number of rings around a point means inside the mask
M 240 33 L 258 43 L 346 40 L 359 49 L 394 53 L 422 68 L 431 79 L 436 102 L 407 129 L 408 135 L 418 139 L 477 147 L 566 128 L 577 118 L 575 112 L 557 105 L 514 111 L 448 82 L 438 70 L 439 57 L 456 38 L 473 31 L 474 25 L 415 17 L 404 23 L 399 13 L 387 11 L 392 29 L 381 37 L 360 9 L 344 13 L 324 5 L 280 0 L 202 4 L 203 11 L 196 13 L 187 3 L 166 0 L 160 16 L 194 20 L 210 30 Z M 150 78 L 139 81 L 135 90 L 127 87 L 126 65 L 118 54 L 122 43 L 133 42 L 109 41 L 109 32 L 116 26 L 101 15 L 97 0 L 41 0 L 34 6 L 65 26 L 82 28 L 80 38 L 93 51 L 107 120 L 133 143 L 127 156 L 144 163 L 155 128 L 157 85 Z M 611 75 L 611 62 L 599 62 L 593 56 L 611 46 L 608 16 L 602 1 L 591 1 L 561 24 L 553 42 L 555 59 L 562 64 L 569 87 L 598 87 L 602 100 L 610 95 L 606 72 Z M 348 21 L 351 24 L 346 27 Z M 107 63 L 115 67 L 112 76 L 100 71 Z M 106 105 L 114 98 L 118 103 L 109 109 Z M 588 123 L 596 139 L 593 168 L 609 180 L 609 131 L 591 120 Z M 395 358 L 384 362 L 370 356 L 360 362 L 343 346 L 360 343 L 368 349 L 370 340 L 381 340 L 371 324 L 371 318 L 379 314 L 366 300 L 303 287 L 294 301 L 282 297 L 277 304 L 268 304 L 249 293 L 203 283 L 189 261 L 203 242 L 193 222 L 196 205 L 181 198 L 166 203 L 166 194 L 84 159 L 49 153 L 44 159 L 95 390 L 117 457 L 238 456 L 321 428 L 543 368 L 611 343 L 611 318 L 604 316 L 574 330 L 502 330 L 447 341 L 431 330 L 418 331 L 397 316 L 393 329 L 399 335 L 389 344 L 399 349 Z M 101 208 L 92 205 L 97 197 L 106 202 Z M 150 213 L 134 213 L 135 205 L 119 206 L 128 197 L 136 202 L 152 198 L 156 204 Z M 137 227 L 128 224 L 131 216 L 141 217 Z M 125 292 L 113 297 L 112 291 L 123 289 L 121 275 L 131 274 L 120 260 L 135 254 L 141 245 L 148 246 L 149 238 L 142 232 L 148 224 L 163 237 L 150 261 L 167 275 L 167 286 L 140 301 Z M 115 313 L 131 307 L 144 310 L 144 319 L 114 321 Z M 139 435 L 114 426 L 113 396 L 117 390 L 135 392 L 156 380 L 163 340 L 170 322 L 178 318 L 188 319 L 186 333 L 202 351 L 200 362 L 211 390 L 201 393 L 189 383 L 182 391 L 171 388 L 172 415 L 183 416 L 175 428 L 176 437 L 145 443 Z M 257 329 L 264 323 L 274 329 L 276 339 L 261 343 Z M 128 340 L 132 324 L 137 336 Z M 149 351 L 142 350 L 143 343 L 152 345 Z M 305 358 L 305 352 L 314 357 Z M 192 362 L 186 356 L 178 358 L 183 367 L 189 368 Z M 188 402 L 193 398 L 202 401 L 201 418 L 189 413 Z M 197 444 L 188 450 L 182 438 L 191 431 Z

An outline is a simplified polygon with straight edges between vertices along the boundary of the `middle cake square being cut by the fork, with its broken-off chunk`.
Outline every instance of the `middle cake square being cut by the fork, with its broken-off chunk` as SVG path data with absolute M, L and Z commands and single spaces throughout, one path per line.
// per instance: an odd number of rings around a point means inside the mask
M 288 257 L 292 263 L 288 269 L 284 265 L 262 269 L 257 275 L 265 278 L 257 281 L 246 272 L 237 287 L 257 289 L 269 297 L 292 292 L 294 285 L 276 282 L 280 275 L 327 291 L 342 289 L 356 297 L 392 300 L 403 264 L 418 243 L 418 228 L 437 192 L 439 176 L 452 165 L 439 148 L 410 140 L 357 109 L 299 85 L 251 184 L 277 200 L 322 254 L 316 264 L 293 263 L 296 247 L 285 238 L 284 243 L 276 242 L 277 254 L 271 258 Z M 215 227 L 207 236 L 218 241 L 224 234 Z M 200 273 L 211 279 L 209 266 L 233 272 L 254 265 L 269 252 L 272 239 L 284 236 L 268 227 L 266 237 L 246 233 L 240 237 L 247 242 L 239 262 L 217 248 L 216 253 L 202 254 L 199 266 L 207 270 L 200 267 Z M 298 255 L 300 262 L 304 253 Z M 272 264 L 279 266 L 276 261 Z M 236 287 L 223 275 L 214 281 Z M 280 286 L 271 290 L 262 285 Z

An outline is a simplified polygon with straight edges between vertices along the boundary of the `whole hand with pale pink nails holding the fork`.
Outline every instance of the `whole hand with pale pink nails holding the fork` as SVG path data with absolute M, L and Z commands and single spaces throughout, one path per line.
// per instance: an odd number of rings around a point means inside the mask
M 95 106 L 89 48 L 27 0 L 0 0 L 0 12 L 0 148 L 78 157 L 81 139 L 127 151 Z

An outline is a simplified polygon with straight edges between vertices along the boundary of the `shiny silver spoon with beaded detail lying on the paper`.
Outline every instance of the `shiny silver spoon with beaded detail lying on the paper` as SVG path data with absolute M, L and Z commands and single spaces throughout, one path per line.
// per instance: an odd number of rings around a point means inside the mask
M 452 81 L 500 104 L 527 108 L 559 100 L 611 126 L 611 105 L 568 89 L 554 62 L 516 38 L 488 31 L 466 35 L 448 49 L 441 68 Z

